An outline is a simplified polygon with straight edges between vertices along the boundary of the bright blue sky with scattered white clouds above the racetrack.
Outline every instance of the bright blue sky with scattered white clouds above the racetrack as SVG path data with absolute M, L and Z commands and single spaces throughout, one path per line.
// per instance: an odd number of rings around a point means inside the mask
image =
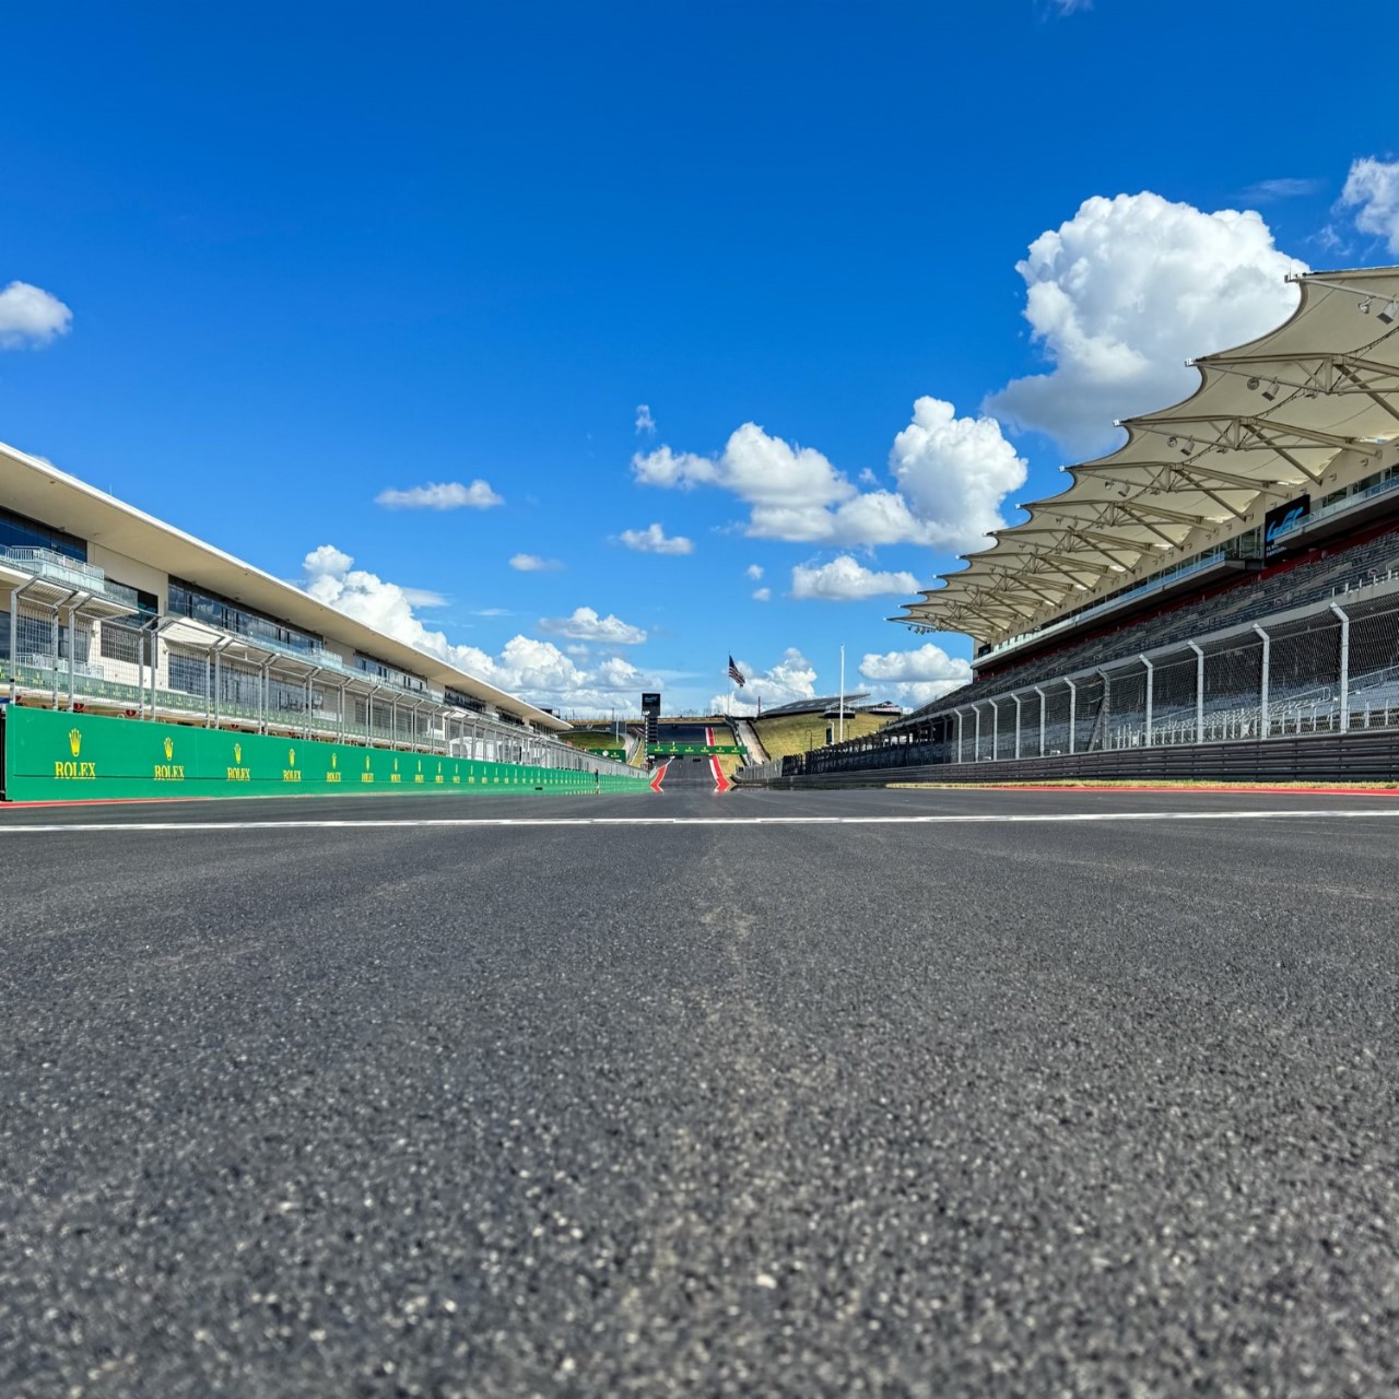
M 912 704 L 912 582 L 1399 260 L 1346 15 L 25 7 L 0 439 L 564 712 Z

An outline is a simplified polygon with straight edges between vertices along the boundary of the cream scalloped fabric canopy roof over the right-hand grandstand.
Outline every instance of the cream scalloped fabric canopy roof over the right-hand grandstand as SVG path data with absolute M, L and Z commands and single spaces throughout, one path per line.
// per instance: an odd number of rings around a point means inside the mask
M 1308 273 L 1276 330 L 1191 364 L 1200 385 L 1126 418 L 1115 452 L 1066 467 L 1073 484 L 1023 506 L 893 617 L 979 641 L 1041 625 L 1111 576 L 1156 572 L 1206 548 L 1220 526 L 1311 491 L 1343 450 L 1378 457 L 1399 435 L 1399 267 Z M 1233 532 L 1231 532 L 1233 533 Z M 1129 579 L 1123 578 L 1123 585 Z

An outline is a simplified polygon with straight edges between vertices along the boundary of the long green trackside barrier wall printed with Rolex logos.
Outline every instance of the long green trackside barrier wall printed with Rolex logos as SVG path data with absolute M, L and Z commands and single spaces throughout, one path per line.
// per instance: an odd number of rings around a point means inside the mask
M 8 802 L 593 790 L 592 768 L 471 762 L 14 705 L 4 711 L 4 768 Z M 604 792 L 648 786 L 642 774 L 602 778 Z

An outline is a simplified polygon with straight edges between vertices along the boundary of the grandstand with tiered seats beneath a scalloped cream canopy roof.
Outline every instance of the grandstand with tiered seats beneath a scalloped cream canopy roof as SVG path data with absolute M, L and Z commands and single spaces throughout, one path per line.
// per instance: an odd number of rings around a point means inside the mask
M 971 637 L 970 684 L 746 776 L 1399 729 L 1399 267 L 1294 281 L 1283 326 L 891 618 Z

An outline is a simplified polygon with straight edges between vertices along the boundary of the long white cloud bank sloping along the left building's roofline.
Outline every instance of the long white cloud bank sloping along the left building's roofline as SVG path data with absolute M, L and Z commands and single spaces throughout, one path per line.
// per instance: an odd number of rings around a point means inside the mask
M 512 637 L 495 656 L 477 646 L 455 645 L 443 632 L 422 625 L 410 589 L 354 568 L 354 560 L 333 544 L 312 550 L 304 569 L 305 589 L 318 602 L 534 705 L 603 711 L 614 706 L 621 694 L 660 686 L 659 677 L 621 656 L 600 658 L 585 667 L 551 641 L 536 637 Z

